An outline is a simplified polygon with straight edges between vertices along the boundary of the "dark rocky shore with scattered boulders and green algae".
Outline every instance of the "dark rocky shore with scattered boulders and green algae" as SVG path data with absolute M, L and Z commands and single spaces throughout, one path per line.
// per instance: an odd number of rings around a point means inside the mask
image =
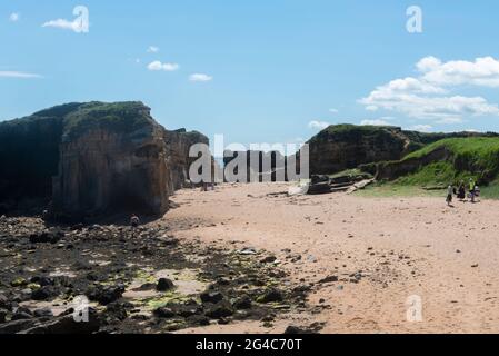
M 0 334 L 170 333 L 306 310 L 276 257 L 181 241 L 162 222 L 46 226 L 0 217 Z M 89 320 L 73 318 L 89 300 Z M 290 326 L 289 332 L 307 332 Z

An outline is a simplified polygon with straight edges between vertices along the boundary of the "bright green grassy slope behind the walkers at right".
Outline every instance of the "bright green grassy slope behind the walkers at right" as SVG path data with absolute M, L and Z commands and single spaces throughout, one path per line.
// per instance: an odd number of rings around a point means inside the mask
M 419 195 L 421 188 L 441 195 L 436 189 L 473 178 L 485 197 L 499 198 L 497 137 L 442 139 L 401 160 L 379 162 L 377 166 L 379 182 L 373 187 L 377 190 L 375 195 Z

